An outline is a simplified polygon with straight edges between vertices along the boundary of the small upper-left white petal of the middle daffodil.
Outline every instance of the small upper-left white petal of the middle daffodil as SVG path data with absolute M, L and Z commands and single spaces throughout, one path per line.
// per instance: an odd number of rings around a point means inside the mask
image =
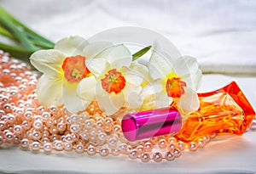
M 108 69 L 108 62 L 106 59 L 85 59 L 85 65 L 90 72 L 98 77 L 102 72 Z

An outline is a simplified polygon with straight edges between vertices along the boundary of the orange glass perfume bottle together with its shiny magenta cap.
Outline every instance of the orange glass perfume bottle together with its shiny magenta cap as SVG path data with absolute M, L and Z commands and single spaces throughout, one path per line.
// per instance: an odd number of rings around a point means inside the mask
M 183 142 L 206 135 L 230 132 L 241 135 L 253 121 L 255 112 L 235 81 L 210 93 L 198 93 L 200 108 L 182 121 L 174 106 L 125 115 L 122 130 L 125 138 L 136 141 L 168 133 Z

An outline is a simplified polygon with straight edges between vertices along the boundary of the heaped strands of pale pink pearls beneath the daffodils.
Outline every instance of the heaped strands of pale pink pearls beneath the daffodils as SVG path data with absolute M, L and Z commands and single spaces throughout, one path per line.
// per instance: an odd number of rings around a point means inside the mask
M 99 109 L 96 102 L 86 111 L 71 115 L 64 107 L 43 107 L 38 103 L 38 75 L 8 53 L 0 51 L 0 146 L 20 145 L 33 153 L 75 151 L 102 157 L 123 154 L 131 160 L 172 161 L 184 150 L 203 148 L 215 134 L 184 143 L 172 135 L 128 142 L 120 127 L 127 110 L 113 119 Z M 131 112 L 131 110 L 129 111 Z M 256 120 L 250 126 L 256 129 Z

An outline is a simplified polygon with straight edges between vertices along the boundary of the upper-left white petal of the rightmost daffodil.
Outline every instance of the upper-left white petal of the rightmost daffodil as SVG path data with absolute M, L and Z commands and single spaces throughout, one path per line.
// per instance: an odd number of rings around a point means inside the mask
M 157 78 L 165 78 L 172 72 L 172 62 L 159 53 L 152 53 L 149 60 L 149 74 L 155 80 Z

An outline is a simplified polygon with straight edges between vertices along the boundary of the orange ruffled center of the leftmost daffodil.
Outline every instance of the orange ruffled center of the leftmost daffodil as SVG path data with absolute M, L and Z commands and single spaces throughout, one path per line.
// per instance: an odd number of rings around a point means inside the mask
M 91 75 L 90 70 L 85 65 L 85 57 L 81 55 L 67 57 L 61 67 L 69 82 L 79 82 Z

